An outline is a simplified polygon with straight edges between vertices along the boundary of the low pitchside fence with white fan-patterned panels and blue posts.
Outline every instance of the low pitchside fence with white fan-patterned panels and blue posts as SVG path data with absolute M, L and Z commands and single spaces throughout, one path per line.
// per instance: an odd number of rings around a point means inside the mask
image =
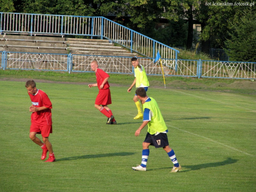
M 97 60 L 108 73 L 133 74 L 132 57 L 78 54 L 0 52 L 0 69 L 91 72 L 90 63 Z M 138 57 L 148 75 L 162 75 L 160 61 Z M 256 79 L 256 62 L 230 62 L 162 58 L 165 76 L 198 78 Z

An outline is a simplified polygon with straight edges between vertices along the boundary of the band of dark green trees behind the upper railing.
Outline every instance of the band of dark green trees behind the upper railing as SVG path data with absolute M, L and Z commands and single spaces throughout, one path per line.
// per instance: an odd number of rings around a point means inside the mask
M 225 48 L 225 46 L 228 46 L 230 51 L 235 49 L 232 45 L 240 40 L 239 35 L 242 35 L 242 30 L 245 30 L 243 35 L 248 33 L 244 24 L 246 19 L 241 22 L 241 18 L 244 12 L 248 12 L 251 7 L 214 6 L 207 4 L 208 2 L 210 1 L 0 0 L 0 8 L 3 12 L 106 16 L 166 45 L 185 46 L 187 49 L 193 45 L 193 24 L 199 23 L 202 27 L 200 42 L 203 52 L 209 53 L 210 48 Z M 237 2 L 237 0 L 229 0 L 228 3 Z M 239 1 L 239 3 L 246 2 L 248 0 Z M 223 1 L 216 0 L 210 3 L 223 3 Z M 168 25 L 164 29 L 156 29 L 156 23 L 161 22 L 162 18 L 167 20 Z M 248 17 L 246 23 L 248 25 L 255 23 L 253 18 L 255 17 Z M 238 28 L 240 24 L 242 26 Z M 230 51 L 229 54 L 231 54 Z

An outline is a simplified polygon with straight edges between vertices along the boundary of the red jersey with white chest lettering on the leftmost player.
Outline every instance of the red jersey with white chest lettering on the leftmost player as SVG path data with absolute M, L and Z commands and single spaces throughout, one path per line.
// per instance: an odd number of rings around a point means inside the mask
M 37 90 L 35 95 L 29 93 L 32 104 L 37 108 L 45 106 L 46 110 L 33 112 L 31 114 L 31 122 L 40 126 L 52 125 L 52 102 L 47 94 L 42 90 Z

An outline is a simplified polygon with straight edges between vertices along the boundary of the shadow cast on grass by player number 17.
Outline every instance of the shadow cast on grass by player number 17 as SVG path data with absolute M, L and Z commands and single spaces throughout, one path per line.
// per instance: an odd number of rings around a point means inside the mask
M 190 172 L 191 170 L 199 170 L 202 168 L 210 168 L 210 167 L 218 167 L 218 166 L 223 166 L 223 165 L 228 165 L 228 164 L 233 164 L 238 162 L 237 159 L 232 159 L 232 158 L 227 158 L 224 161 L 220 161 L 220 162 L 214 162 L 214 163 L 203 163 L 203 164 L 198 164 L 198 165 L 181 165 L 182 168 L 186 169 L 186 170 L 182 170 L 181 172 Z M 164 167 L 164 168 L 156 168 L 156 169 L 171 169 L 172 167 Z M 147 170 L 154 170 L 154 169 L 147 169 Z

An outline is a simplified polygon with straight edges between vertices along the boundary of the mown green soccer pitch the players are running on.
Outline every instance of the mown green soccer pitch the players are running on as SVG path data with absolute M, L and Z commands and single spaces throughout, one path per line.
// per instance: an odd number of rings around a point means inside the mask
M 132 82 L 131 82 L 132 83 Z M 0 191 L 255 191 L 256 95 L 150 88 L 167 124 L 182 172 L 150 147 L 146 172 L 136 172 L 142 142 L 134 133 L 134 93 L 111 87 L 117 125 L 94 108 L 97 88 L 38 82 L 53 103 L 50 141 L 56 162 L 40 160 L 29 139 L 25 81 L 0 81 Z M 135 91 L 135 90 L 133 90 Z M 40 135 L 39 135 L 40 138 Z

